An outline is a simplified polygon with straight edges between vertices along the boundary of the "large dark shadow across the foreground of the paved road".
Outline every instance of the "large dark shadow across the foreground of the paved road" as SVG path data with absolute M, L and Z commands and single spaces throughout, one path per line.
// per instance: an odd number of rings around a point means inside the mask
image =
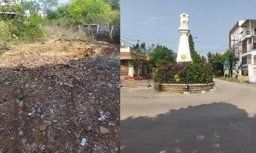
M 256 120 L 220 102 L 121 120 L 121 152 L 256 152 Z

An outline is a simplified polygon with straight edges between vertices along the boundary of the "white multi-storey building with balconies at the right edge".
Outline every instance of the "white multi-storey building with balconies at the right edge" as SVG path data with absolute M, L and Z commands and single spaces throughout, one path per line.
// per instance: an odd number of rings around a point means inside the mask
M 239 73 L 256 83 L 256 19 L 234 25 L 229 32 L 229 47 L 239 57 Z

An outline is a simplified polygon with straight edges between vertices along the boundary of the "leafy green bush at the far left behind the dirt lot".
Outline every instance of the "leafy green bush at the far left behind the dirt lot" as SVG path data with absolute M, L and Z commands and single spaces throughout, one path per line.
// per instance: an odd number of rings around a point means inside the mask
M 0 6 L 0 12 L 4 12 L 0 14 L 1 46 L 7 46 L 8 42 L 17 38 L 34 42 L 45 36 L 41 17 L 37 13 L 31 13 L 27 17 L 22 5 Z

